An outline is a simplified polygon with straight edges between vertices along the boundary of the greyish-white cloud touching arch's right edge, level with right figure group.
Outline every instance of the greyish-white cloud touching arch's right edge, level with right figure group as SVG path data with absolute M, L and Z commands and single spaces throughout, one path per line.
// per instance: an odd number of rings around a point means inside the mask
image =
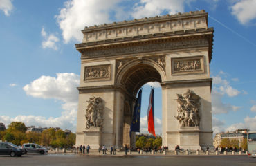
M 221 114 L 229 111 L 237 111 L 240 107 L 222 102 L 223 94 L 212 90 L 212 113 Z

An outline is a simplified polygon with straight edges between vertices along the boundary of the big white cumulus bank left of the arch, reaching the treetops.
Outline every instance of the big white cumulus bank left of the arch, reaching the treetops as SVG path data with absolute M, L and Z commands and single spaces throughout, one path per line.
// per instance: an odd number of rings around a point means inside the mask
M 79 75 L 74 73 L 57 73 L 57 77 L 42 76 L 30 84 L 24 86 L 27 95 L 35 98 L 52 98 L 62 101 L 64 110 L 60 117 L 45 118 L 43 116 L 23 116 L 15 118 L 0 116 L 0 122 L 6 125 L 13 121 L 24 122 L 27 126 L 35 125 L 41 127 L 61 127 L 62 129 L 72 129 L 75 131 L 77 119 L 77 100 L 79 86 Z

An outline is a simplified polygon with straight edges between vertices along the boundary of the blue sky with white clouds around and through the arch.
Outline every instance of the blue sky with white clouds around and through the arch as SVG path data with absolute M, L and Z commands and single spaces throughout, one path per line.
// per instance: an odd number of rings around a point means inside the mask
M 204 9 L 214 27 L 214 133 L 256 130 L 256 0 L 0 0 L 0 122 L 75 131 L 84 26 Z M 156 133 L 161 88 L 156 86 Z M 150 86 L 143 87 L 146 131 Z

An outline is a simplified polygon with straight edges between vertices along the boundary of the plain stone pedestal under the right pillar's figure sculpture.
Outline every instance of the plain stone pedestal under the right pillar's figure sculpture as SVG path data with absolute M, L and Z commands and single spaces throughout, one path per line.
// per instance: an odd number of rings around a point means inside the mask
M 179 140 L 181 149 L 201 150 L 199 131 L 199 127 L 180 127 Z

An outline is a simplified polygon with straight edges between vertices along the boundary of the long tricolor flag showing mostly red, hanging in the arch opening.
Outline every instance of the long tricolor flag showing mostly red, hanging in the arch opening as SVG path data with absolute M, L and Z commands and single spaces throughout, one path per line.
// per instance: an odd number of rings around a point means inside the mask
M 147 128 L 149 133 L 156 136 L 155 124 L 154 124 L 154 89 L 151 89 L 149 96 L 149 108 L 147 109 Z

